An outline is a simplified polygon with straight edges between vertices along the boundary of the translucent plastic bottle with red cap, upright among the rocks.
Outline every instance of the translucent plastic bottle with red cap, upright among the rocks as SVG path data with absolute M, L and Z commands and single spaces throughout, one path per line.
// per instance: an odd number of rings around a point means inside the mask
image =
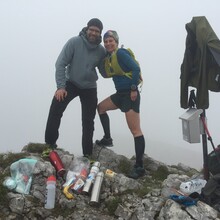
M 53 209 L 55 206 L 55 196 L 56 196 L 56 177 L 49 176 L 47 178 L 47 193 L 46 193 L 46 209 Z

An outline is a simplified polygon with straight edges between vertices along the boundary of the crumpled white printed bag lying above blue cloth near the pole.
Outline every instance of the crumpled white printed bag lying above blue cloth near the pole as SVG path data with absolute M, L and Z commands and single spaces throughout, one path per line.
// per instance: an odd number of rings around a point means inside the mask
M 193 192 L 201 193 L 202 188 L 206 185 L 207 181 L 204 179 L 192 179 L 188 182 L 180 184 L 180 191 L 185 194 L 191 194 Z

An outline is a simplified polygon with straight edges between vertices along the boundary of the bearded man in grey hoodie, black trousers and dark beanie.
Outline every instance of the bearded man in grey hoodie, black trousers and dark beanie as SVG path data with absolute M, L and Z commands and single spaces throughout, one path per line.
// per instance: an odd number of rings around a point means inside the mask
M 82 151 L 89 157 L 93 150 L 94 118 L 97 107 L 96 67 L 101 68 L 105 49 L 101 43 L 102 22 L 93 18 L 79 36 L 64 45 L 56 61 L 57 90 L 53 97 L 45 131 L 45 142 L 56 148 L 63 112 L 79 96 L 82 109 Z

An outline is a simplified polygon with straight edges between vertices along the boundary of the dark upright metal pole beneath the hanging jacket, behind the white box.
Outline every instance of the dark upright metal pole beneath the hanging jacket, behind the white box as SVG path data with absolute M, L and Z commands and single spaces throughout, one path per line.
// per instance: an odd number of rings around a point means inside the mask
M 201 114 L 201 117 L 206 117 L 205 115 L 205 109 L 203 109 L 203 113 Z M 208 169 L 208 145 L 207 145 L 207 136 L 204 129 L 204 132 L 202 133 L 202 146 L 203 146 L 203 174 L 204 179 L 206 181 L 209 180 L 209 169 Z

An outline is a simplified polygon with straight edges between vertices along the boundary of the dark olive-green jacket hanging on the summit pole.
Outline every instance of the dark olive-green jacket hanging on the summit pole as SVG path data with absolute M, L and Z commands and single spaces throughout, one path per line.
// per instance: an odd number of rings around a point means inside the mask
M 206 17 L 186 24 L 186 49 L 181 65 L 181 108 L 188 108 L 188 87 L 195 87 L 198 109 L 209 107 L 209 91 L 220 92 L 220 41 Z

